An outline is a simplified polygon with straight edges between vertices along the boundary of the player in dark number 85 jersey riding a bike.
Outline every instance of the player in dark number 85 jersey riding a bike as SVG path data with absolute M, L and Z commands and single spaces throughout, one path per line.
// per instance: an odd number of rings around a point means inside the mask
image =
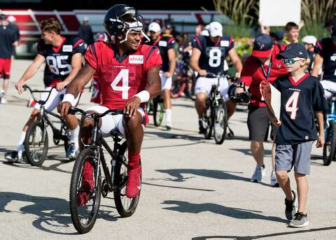
M 83 40 L 80 38 L 68 38 L 60 34 L 61 26 L 59 22 L 50 18 L 41 22 L 41 41 L 38 42 L 38 53 L 22 78 L 16 83 L 15 87 L 20 94 L 22 94 L 22 86 L 25 82 L 32 78 L 38 68 L 45 62 L 52 71 L 52 82 L 45 91 L 50 91 L 50 97 L 45 103 L 45 110 L 52 111 L 65 94 L 66 86 L 71 83 L 73 78 L 77 75 L 81 66 L 81 57 L 85 51 L 83 46 Z M 55 87 L 52 89 L 52 87 Z M 48 97 L 49 92 L 41 94 L 41 100 L 45 100 Z M 73 99 L 72 104 L 76 105 L 79 100 L 79 95 L 76 99 Z M 34 111 L 31 113 L 29 120 L 22 129 L 20 141 L 17 146 L 17 150 L 11 153 L 6 153 L 5 157 L 11 162 L 21 162 L 22 153 L 24 150 L 23 143 L 27 129 L 31 122 L 34 122 L 38 116 L 40 104 L 34 105 Z M 70 145 L 66 151 L 66 157 L 76 157 L 78 153 L 78 120 L 73 115 L 67 115 L 65 117 L 67 127 L 70 129 Z

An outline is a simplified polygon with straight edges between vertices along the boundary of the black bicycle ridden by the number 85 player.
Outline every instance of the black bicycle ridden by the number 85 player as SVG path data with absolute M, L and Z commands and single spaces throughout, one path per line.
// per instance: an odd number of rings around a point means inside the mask
M 64 120 L 57 114 L 45 110 L 44 105 L 48 101 L 52 90 L 55 87 L 52 87 L 51 90 L 31 90 L 28 85 L 23 85 L 23 90 L 29 90 L 34 101 L 40 104 L 40 113 L 35 122 L 32 122 L 29 125 L 26 136 L 25 136 L 25 155 L 27 160 L 32 166 L 41 166 L 43 164 L 45 157 L 48 154 L 48 126 L 52 129 L 52 139 L 55 145 L 58 145 L 60 141 L 64 141 L 64 150 L 66 151 L 69 148 L 69 129 L 66 127 Z M 43 93 L 48 92 L 48 97 L 45 100 L 35 99 L 34 93 Z M 57 118 L 61 125 L 59 128 L 55 127 L 52 120 L 50 120 L 48 115 Z

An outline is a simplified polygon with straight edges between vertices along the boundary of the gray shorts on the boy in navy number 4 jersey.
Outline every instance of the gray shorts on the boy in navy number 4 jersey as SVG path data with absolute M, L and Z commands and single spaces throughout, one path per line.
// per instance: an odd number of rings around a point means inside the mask
M 295 145 L 276 144 L 275 171 L 290 171 L 294 166 L 295 173 L 308 175 L 312 145 L 313 141 Z

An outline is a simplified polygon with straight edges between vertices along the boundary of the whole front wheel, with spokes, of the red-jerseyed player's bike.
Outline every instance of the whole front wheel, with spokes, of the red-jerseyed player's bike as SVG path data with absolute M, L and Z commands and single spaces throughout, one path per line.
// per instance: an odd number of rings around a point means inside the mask
M 102 178 L 100 174 L 97 176 L 99 167 L 94 163 L 96 162 L 94 158 L 92 149 L 86 148 L 81 151 L 73 165 L 71 175 L 69 192 L 71 220 L 81 234 L 92 230 L 99 211 Z

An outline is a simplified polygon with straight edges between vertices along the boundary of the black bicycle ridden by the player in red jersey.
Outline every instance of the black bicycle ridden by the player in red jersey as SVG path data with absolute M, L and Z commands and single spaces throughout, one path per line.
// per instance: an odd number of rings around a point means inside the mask
M 113 192 L 116 209 L 121 217 L 130 217 L 137 209 L 139 195 L 132 199 L 126 197 L 127 183 L 127 141 L 123 141 L 123 136 L 119 132 L 113 132 L 113 150 L 106 143 L 99 131 L 99 118 L 104 115 L 123 114 L 123 110 L 108 110 L 105 113 L 87 114 L 80 108 L 72 107 L 71 114 L 80 113 L 85 118 L 92 118 L 94 125 L 92 129 L 92 143 L 85 146 L 80 152 L 73 166 L 70 184 L 70 212 L 74 227 L 81 234 L 89 232 L 97 219 L 101 194 L 107 197 L 109 192 Z M 111 171 L 107 167 L 104 157 L 104 150 L 111 156 Z M 92 169 L 87 173 L 84 165 L 90 164 Z M 102 181 L 101 166 L 104 171 L 104 180 Z M 111 174 L 110 174 L 111 172 Z M 91 174 L 93 183 L 90 188 L 82 182 L 83 174 Z M 87 202 L 78 204 L 78 194 L 85 193 Z

